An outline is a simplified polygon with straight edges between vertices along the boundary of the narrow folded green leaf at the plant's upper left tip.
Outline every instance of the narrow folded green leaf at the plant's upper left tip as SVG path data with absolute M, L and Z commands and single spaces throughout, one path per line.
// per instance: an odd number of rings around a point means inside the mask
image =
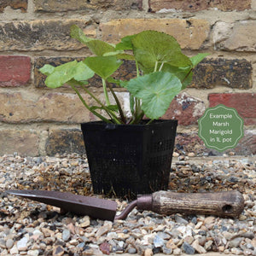
M 82 29 L 77 25 L 71 26 L 71 37 L 79 40 L 82 44 L 86 44 L 90 51 L 97 56 L 102 56 L 107 52 L 114 51 L 115 46 L 113 44 L 86 37 Z

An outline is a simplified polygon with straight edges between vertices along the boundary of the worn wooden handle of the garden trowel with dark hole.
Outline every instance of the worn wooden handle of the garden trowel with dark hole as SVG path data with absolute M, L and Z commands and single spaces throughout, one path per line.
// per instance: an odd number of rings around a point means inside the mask
M 212 214 L 237 217 L 244 207 L 243 196 L 236 190 L 214 193 L 158 191 L 152 196 L 152 211 L 160 214 Z

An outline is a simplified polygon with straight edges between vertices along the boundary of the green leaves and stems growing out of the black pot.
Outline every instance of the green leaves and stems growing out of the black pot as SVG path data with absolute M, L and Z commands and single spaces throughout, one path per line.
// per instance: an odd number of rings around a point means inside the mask
M 151 120 L 159 119 L 166 113 L 172 99 L 190 84 L 195 66 L 208 55 L 198 54 L 190 58 L 183 55 L 176 39 L 164 32 L 140 32 L 126 36 L 119 44 L 113 45 L 88 38 L 79 26 L 73 25 L 71 37 L 85 44 L 95 56 L 87 57 L 84 61 L 70 61 L 58 67 L 44 65 L 40 71 L 47 76 L 45 84 L 49 88 L 70 84 L 85 108 L 105 122 L 116 124 L 137 124 L 144 115 Z M 122 59 L 134 61 L 136 79 L 122 81 L 112 77 L 123 64 Z M 102 78 L 106 103 L 84 86 L 95 74 Z M 112 88 L 113 84 L 130 92 L 131 117 L 125 116 Z M 96 106 L 90 107 L 84 101 L 79 88 L 90 95 Z M 109 93 L 115 104 L 110 103 Z

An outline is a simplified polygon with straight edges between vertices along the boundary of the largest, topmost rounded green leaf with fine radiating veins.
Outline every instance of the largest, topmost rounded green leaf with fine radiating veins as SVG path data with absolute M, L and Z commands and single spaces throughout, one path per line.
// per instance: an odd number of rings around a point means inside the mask
M 192 63 L 183 55 L 176 39 L 164 32 L 144 31 L 131 39 L 135 58 L 143 73 L 154 71 L 155 62 L 174 67 L 188 67 Z

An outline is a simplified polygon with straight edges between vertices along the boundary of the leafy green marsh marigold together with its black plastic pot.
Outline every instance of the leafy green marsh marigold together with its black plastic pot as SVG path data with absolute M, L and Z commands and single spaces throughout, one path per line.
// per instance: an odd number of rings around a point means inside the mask
M 189 58 L 175 38 L 157 31 L 127 36 L 116 45 L 88 38 L 76 25 L 71 36 L 94 56 L 58 67 L 46 64 L 40 71 L 50 88 L 69 84 L 84 107 L 101 119 L 81 125 L 94 192 L 134 197 L 167 189 L 177 120 L 160 117 L 191 82 L 193 69 L 207 54 Z M 134 61 L 136 78 L 113 77 L 122 60 Z M 102 79 L 104 102 L 86 85 L 95 75 Z M 130 93 L 130 114 L 125 115 L 114 86 Z M 96 104 L 85 102 L 81 91 Z

